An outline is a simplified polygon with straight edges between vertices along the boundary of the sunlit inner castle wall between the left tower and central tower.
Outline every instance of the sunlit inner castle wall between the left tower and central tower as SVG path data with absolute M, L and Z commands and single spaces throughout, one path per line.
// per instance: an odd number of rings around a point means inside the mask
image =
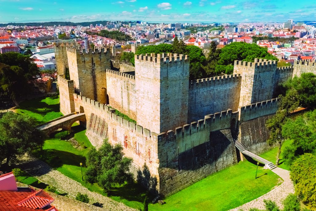
M 114 70 L 106 70 L 108 104 L 131 119 L 136 119 L 135 76 Z

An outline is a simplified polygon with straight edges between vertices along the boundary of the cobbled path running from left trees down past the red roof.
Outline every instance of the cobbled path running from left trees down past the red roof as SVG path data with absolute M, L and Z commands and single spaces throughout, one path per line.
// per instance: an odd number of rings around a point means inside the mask
M 36 158 L 25 156 L 20 160 L 20 163 L 18 165 L 21 169 L 36 177 L 40 182 L 55 186 L 59 193 L 68 193 L 67 196 L 69 196 L 70 198 L 75 198 L 75 195 L 80 192 L 82 194 L 88 195 L 90 199 L 90 204 L 93 204 L 95 202 L 103 204 L 104 210 L 135 210 L 126 206 L 122 202 L 117 202 L 110 199 L 109 197 L 89 191 L 79 182 L 76 182 L 73 179 L 70 179 L 69 177 L 63 175 L 59 171 L 52 169 L 49 165 Z

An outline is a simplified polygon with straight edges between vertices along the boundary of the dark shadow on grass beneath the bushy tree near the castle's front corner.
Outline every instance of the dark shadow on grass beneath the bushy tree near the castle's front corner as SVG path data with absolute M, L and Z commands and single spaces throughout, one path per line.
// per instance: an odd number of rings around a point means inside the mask
M 120 200 L 138 201 L 143 203 L 147 195 L 148 201 L 151 202 L 155 197 L 148 193 L 139 183 L 133 182 L 132 184 L 124 184 L 119 187 L 113 187 L 107 196 L 116 196 Z

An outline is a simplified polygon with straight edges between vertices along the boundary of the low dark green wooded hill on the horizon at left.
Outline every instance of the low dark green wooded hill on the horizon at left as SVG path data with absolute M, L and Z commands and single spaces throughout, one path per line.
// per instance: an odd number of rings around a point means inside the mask
M 33 23 L 0 23 L 0 27 L 6 27 L 8 25 L 14 25 L 14 26 L 89 26 L 90 24 L 94 25 L 95 24 L 102 24 L 106 25 L 106 22 L 108 21 L 92 21 L 92 22 L 33 22 Z M 123 23 L 128 23 L 128 22 L 123 22 Z

